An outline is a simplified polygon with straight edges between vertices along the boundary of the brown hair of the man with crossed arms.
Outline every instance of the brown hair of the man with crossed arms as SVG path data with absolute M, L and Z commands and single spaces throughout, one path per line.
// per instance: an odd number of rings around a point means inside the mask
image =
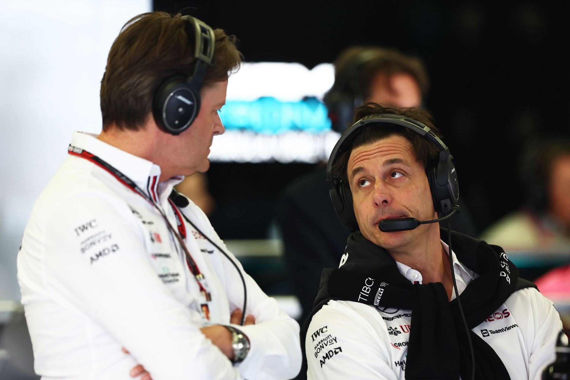
M 149 12 L 133 17 L 113 42 L 101 80 L 103 130 L 139 129 L 152 111 L 154 93 L 173 75 L 191 75 L 194 39 L 186 32 L 181 14 Z M 242 55 L 235 36 L 214 30 L 213 66 L 206 70 L 202 88 L 226 80 L 238 70 Z

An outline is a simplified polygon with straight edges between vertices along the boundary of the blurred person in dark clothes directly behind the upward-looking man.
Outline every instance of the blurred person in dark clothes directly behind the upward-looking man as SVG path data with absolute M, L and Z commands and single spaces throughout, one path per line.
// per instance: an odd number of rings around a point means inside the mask
M 420 59 L 395 49 L 351 46 L 335 60 L 335 83 L 325 94 L 332 128 L 343 133 L 353 111 L 363 102 L 386 107 L 417 107 L 429 82 Z M 343 254 L 349 231 L 338 220 L 325 183 L 325 164 L 292 182 L 282 195 L 276 219 L 282 231 L 284 255 L 303 315 L 308 316 L 323 268 L 334 268 Z M 476 230 L 467 207 L 461 205 L 452 228 L 467 235 Z

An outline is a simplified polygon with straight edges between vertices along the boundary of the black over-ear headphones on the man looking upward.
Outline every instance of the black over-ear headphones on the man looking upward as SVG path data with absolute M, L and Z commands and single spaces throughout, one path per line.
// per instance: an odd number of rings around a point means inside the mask
M 409 119 L 405 116 L 392 114 L 374 114 L 363 117 L 351 126 L 337 141 L 335 148 L 332 150 L 331 157 L 327 164 L 327 183 L 331 201 L 335 207 L 336 214 L 339 216 L 340 222 L 350 231 L 359 230 L 358 223 L 354 214 L 352 205 L 352 193 L 348 183 L 344 183 L 341 177 L 332 172 L 337 158 L 341 153 L 351 148 L 352 141 L 359 130 L 365 125 L 375 125 L 381 128 L 382 125 L 400 125 L 411 129 L 414 132 L 424 136 L 429 140 L 435 148 L 439 150 L 439 158 L 437 162 L 427 165 L 426 175 L 431 190 L 431 198 L 435 211 L 439 216 L 445 216 L 453 211 L 453 206 L 458 204 L 459 186 L 457 183 L 457 171 L 455 170 L 455 160 L 449 148 L 439 137 L 419 121 Z

